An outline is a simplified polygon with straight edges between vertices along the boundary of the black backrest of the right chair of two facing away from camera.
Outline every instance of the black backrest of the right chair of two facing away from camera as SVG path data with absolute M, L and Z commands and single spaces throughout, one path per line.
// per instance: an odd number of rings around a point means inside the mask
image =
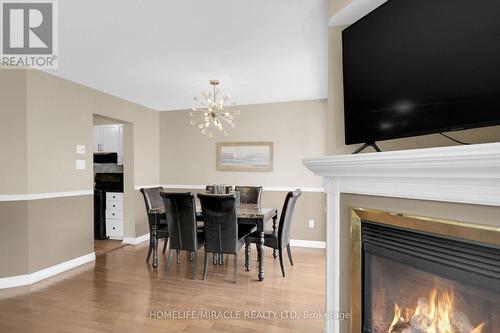
M 238 215 L 234 194 L 199 193 L 205 223 L 205 251 L 238 253 Z

